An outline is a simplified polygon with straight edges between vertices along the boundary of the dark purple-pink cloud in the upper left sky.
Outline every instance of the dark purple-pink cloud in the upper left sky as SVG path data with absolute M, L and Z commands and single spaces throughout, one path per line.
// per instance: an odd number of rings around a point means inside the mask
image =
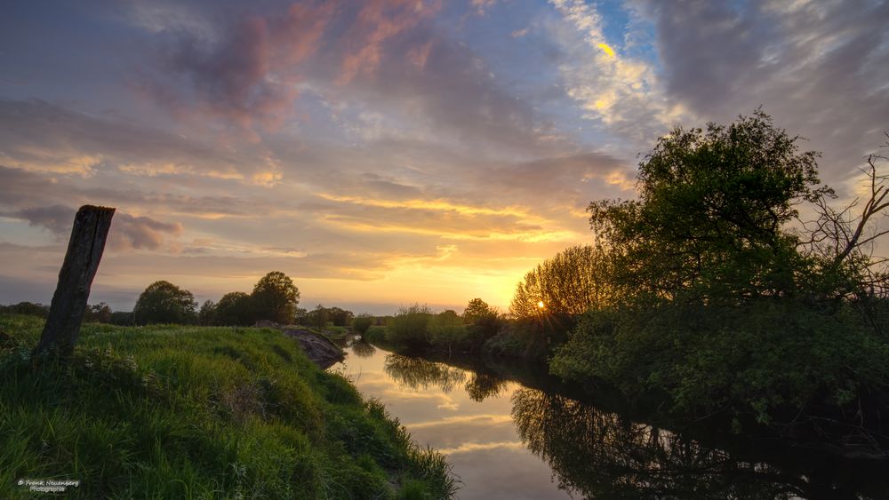
M 173 31 L 160 54 L 161 69 L 172 78 L 143 73 L 137 86 L 180 114 L 220 118 L 244 130 L 274 126 L 296 98 L 297 67 L 317 51 L 334 6 L 292 4 L 284 15 L 249 16 L 212 42 L 200 32 Z

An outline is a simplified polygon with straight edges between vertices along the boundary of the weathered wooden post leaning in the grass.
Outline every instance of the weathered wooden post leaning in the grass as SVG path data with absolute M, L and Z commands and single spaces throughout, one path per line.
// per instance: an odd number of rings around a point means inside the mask
M 84 321 L 86 301 L 90 298 L 92 278 L 99 269 L 114 210 L 92 205 L 84 205 L 77 210 L 68 252 L 59 272 L 59 284 L 52 294 L 50 315 L 35 354 L 51 350 L 58 350 L 62 356 L 74 353 L 80 324 Z

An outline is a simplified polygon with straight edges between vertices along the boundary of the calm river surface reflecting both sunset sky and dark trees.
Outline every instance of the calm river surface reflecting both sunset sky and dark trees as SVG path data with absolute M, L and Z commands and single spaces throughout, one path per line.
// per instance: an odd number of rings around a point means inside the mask
M 346 351 L 346 361 L 332 369 L 385 403 L 420 445 L 445 453 L 463 499 L 886 498 L 889 492 L 885 463 L 758 445 L 730 452 L 565 397 L 545 377 L 517 377 L 523 385 L 502 369 L 458 368 L 360 341 Z

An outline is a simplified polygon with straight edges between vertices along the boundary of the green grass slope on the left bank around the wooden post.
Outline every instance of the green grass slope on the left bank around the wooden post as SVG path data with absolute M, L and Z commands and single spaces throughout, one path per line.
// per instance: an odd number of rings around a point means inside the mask
M 378 401 L 273 329 L 84 325 L 31 359 L 43 321 L 0 315 L 0 498 L 441 498 L 450 466 Z

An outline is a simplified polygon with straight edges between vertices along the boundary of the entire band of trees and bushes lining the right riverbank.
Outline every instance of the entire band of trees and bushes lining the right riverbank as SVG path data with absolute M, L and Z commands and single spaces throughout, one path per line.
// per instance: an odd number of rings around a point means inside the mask
M 442 330 L 442 314 L 416 307 L 387 339 L 543 361 L 678 417 L 880 456 L 889 273 L 874 245 L 889 232 L 878 220 L 886 159 L 870 155 L 860 197 L 836 208 L 819 155 L 799 143 L 762 111 L 677 128 L 639 164 L 637 199 L 590 203 L 594 243 L 526 274 L 510 320 L 490 316 L 484 340 L 465 340 L 477 326 L 465 313 L 462 329 Z

